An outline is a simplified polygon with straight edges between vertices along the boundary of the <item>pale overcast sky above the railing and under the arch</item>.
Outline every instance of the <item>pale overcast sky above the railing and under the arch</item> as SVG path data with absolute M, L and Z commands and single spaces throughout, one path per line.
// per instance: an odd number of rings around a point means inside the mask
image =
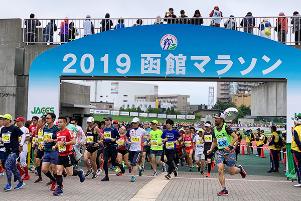
M 109 1 L 58 1 L 58 0 L 13 0 L 3 1 L 0 7 L 0 18 L 29 18 L 34 13 L 40 19 L 69 19 L 104 18 L 106 13 L 111 18 L 156 18 L 164 17 L 169 8 L 174 9 L 176 16 L 180 16 L 183 9 L 188 17 L 194 15 L 195 10 L 200 10 L 202 17 L 209 17 L 215 6 L 220 8 L 224 17 L 234 15 L 243 17 L 252 12 L 255 17 L 275 17 L 279 12 L 292 16 L 294 11 L 301 12 L 301 0 L 173 0 L 173 1 L 141 1 L 141 0 L 109 0 Z M 191 104 L 208 105 L 208 87 L 215 86 L 216 82 L 150 82 L 159 84 L 160 94 L 186 94 L 190 95 Z M 171 87 L 172 85 L 172 87 Z M 215 95 L 216 99 L 216 95 Z

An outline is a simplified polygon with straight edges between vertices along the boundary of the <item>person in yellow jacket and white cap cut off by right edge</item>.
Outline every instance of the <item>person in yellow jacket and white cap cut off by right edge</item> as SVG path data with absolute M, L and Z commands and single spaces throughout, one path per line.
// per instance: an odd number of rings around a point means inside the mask
M 295 116 L 293 120 L 295 127 L 292 129 L 291 152 L 293 155 L 293 164 L 298 180 L 294 187 L 301 187 L 301 117 Z

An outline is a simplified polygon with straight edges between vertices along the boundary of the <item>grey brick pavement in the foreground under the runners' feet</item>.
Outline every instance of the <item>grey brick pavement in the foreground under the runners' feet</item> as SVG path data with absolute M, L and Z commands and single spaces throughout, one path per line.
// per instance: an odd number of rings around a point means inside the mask
M 104 172 L 97 179 L 92 179 L 90 175 L 83 183 L 79 182 L 77 176 L 67 176 L 63 181 L 64 195 L 54 196 L 50 186 L 45 185 L 49 179 L 44 176 L 44 182 L 34 183 L 37 176 L 31 172 L 31 179 L 25 181 L 26 185 L 21 189 L 8 192 L 0 189 L 0 200 L 130 200 L 147 183 L 148 188 L 150 183 L 154 183 L 149 182 L 154 179 L 152 174 L 153 171 L 146 170 L 142 177 L 137 176 L 136 182 L 129 181 L 131 175 L 127 170 L 122 176 L 116 176 L 109 170 L 108 182 L 100 181 Z M 225 177 L 229 195 L 220 197 L 217 196 L 217 192 L 221 190 L 217 173 L 206 178 L 198 172 L 181 171 L 178 177 L 172 177 L 156 200 L 300 200 L 301 188 L 293 187 L 296 182 L 287 181 L 283 176 L 247 175 L 242 179 L 240 174 L 225 174 Z M 6 180 L 6 176 L 0 177 L 1 188 L 6 185 Z M 16 185 L 17 183 L 13 183 L 13 187 Z

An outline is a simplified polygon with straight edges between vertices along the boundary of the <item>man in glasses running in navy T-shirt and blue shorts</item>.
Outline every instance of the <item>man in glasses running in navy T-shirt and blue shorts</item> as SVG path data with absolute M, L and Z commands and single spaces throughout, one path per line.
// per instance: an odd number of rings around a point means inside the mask
M 59 131 L 58 127 L 54 125 L 55 118 L 56 115 L 54 113 L 47 113 L 47 126 L 45 126 L 43 129 L 44 144 L 40 147 L 41 151 L 44 150 L 42 172 L 52 181 L 50 190 L 54 190 L 57 184 L 56 164 L 59 157 L 58 149 L 52 150 L 52 147 L 57 143 L 56 133 Z M 52 169 L 53 176 L 49 171 L 49 167 Z

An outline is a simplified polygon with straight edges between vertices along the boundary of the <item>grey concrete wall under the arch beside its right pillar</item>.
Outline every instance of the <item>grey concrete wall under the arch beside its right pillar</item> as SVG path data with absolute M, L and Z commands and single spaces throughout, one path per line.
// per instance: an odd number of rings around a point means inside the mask
M 286 82 L 252 87 L 252 116 L 286 117 Z

